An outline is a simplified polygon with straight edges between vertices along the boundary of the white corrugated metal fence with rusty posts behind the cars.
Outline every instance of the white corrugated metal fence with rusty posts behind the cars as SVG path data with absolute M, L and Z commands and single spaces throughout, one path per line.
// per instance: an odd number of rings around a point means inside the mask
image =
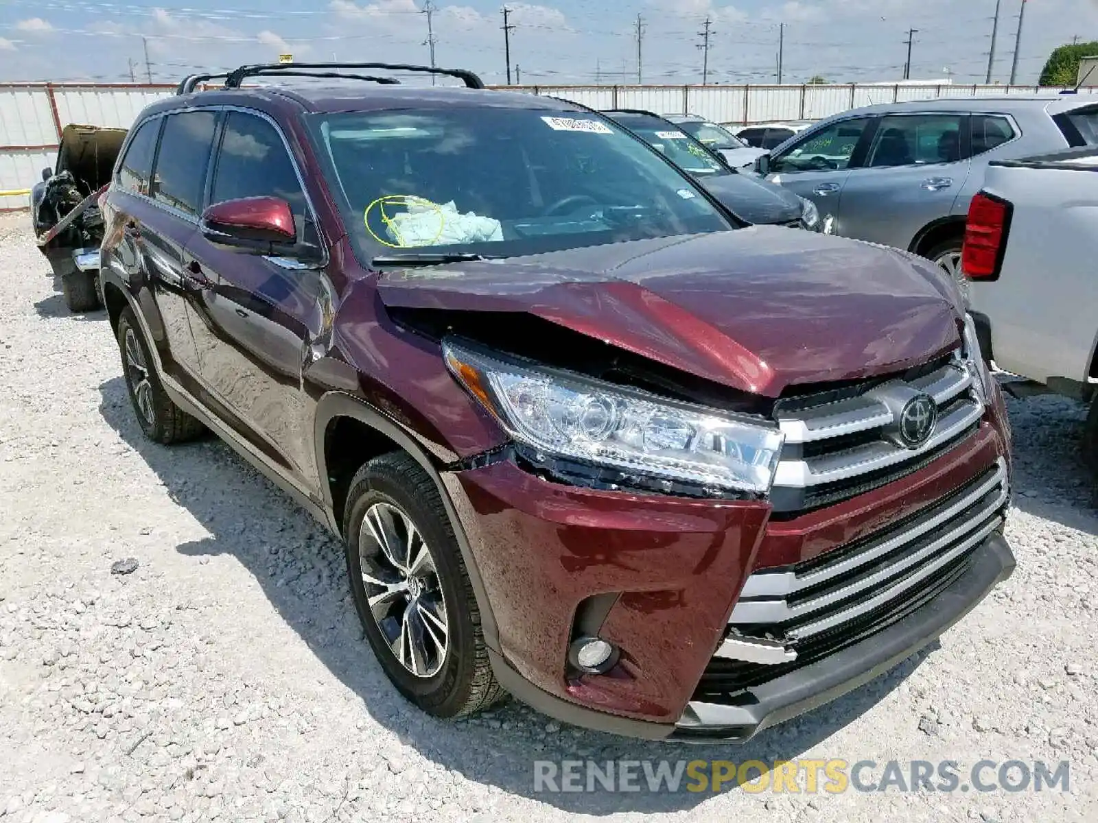
M 817 120 L 871 103 L 976 94 L 1055 94 L 1032 86 L 513 86 L 593 109 L 692 112 L 718 123 Z M 173 86 L 0 83 L 0 210 L 26 205 L 24 193 L 53 167 L 69 123 L 128 127 Z M 1083 89 L 1096 92 L 1098 88 Z

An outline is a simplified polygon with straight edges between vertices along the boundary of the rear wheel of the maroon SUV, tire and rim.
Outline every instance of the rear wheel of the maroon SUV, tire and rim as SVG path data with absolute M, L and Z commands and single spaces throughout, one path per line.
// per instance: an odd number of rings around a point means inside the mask
M 148 343 L 128 306 L 119 316 L 119 351 L 130 403 L 145 437 L 168 446 L 193 440 L 205 431 L 198 418 L 183 412 L 164 391 Z

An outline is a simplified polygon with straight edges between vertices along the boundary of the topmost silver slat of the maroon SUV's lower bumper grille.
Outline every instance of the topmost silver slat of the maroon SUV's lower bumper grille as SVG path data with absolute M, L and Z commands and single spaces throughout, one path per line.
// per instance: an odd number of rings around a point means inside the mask
M 811 586 L 818 586 L 832 577 L 848 574 L 859 566 L 864 566 L 877 557 L 883 557 L 889 552 L 899 549 L 905 543 L 910 543 L 911 541 L 917 540 L 931 529 L 934 529 L 946 520 L 956 517 L 966 508 L 987 496 L 995 489 L 996 486 L 1001 485 L 1004 487 L 1002 495 L 1000 495 L 997 505 L 1006 503 L 1006 481 L 1007 466 L 1006 462 L 1000 458 L 994 474 L 989 475 L 986 480 L 973 486 L 971 489 L 967 489 L 961 497 L 952 500 L 949 506 L 944 508 L 934 508 L 931 511 L 925 512 L 899 534 L 894 534 L 890 538 L 872 543 L 864 550 L 852 554 L 843 561 L 828 564 L 807 574 L 798 575 L 793 571 L 755 572 L 748 578 L 747 583 L 743 584 L 740 597 L 785 597 L 786 595 L 802 591 L 803 589 Z

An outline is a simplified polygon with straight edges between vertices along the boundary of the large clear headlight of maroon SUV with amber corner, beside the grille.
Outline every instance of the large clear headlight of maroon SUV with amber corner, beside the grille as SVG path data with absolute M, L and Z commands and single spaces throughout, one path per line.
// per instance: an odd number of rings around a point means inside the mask
M 785 436 L 750 418 L 442 343 L 446 364 L 517 441 L 542 455 L 765 493 Z

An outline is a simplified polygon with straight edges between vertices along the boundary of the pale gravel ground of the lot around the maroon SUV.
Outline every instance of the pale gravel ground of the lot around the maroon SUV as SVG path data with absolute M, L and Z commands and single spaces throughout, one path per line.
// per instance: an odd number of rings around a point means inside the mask
M 1082 406 L 1011 402 L 1015 576 L 938 644 L 747 746 L 436 722 L 362 640 L 338 543 L 216 440 L 145 442 L 103 313 L 0 217 L 0 823 L 1098 820 L 1098 533 Z M 128 576 L 110 573 L 136 557 Z M 1071 762 L 1069 793 L 550 794 L 534 762 Z

